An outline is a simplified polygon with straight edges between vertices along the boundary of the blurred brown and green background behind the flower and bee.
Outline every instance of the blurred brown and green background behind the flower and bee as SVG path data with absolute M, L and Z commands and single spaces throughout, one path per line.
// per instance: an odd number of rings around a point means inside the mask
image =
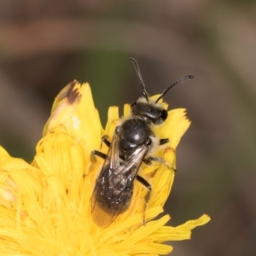
M 90 82 L 108 106 L 151 94 L 183 75 L 165 100 L 192 125 L 177 148 L 170 224 L 212 221 L 172 255 L 256 255 L 256 3 L 241 0 L 1 1 L 0 144 L 31 161 L 56 94 Z

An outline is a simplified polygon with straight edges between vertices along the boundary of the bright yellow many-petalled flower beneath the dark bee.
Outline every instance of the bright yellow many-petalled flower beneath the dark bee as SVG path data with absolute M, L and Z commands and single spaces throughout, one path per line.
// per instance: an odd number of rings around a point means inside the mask
M 129 111 L 125 105 L 124 116 Z M 172 247 L 165 241 L 189 239 L 190 230 L 209 221 L 203 215 L 170 227 L 165 225 L 168 215 L 155 218 L 163 212 L 174 178 L 173 170 L 163 164 L 143 164 L 139 171 L 152 185 L 145 225 L 147 191 L 137 182 L 126 212 L 104 229 L 93 221 L 90 199 L 103 160 L 92 161 L 90 153 L 108 152 L 101 138 L 108 135 L 111 140 L 118 120 L 118 108 L 109 108 L 103 130 L 89 84 L 73 81 L 55 99 L 32 164 L 12 158 L 0 147 L 0 255 L 167 254 Z M 188 127 L 184 109 L 174 109 L 165 124 L 155 128 L 160 137 L 170 139 L 156 155 L 173 169 L 175 149 Z

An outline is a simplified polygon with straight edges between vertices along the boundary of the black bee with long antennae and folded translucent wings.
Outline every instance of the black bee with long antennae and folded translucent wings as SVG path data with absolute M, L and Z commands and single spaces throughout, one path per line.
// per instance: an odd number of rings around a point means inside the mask
M 112 141 L 109 142 L 106 136 L 102 137 L 102 142 L 109 148 L 108 154 L 96 150 L 92 152 L 92 156 L 97 155 L 104 159 L 91 200 L 92 217 L 102 228 L 113 223 L 119 214 L 130 207 L 135 179 L 147 189 L 143 212 L 143 224 L 145 224 L 145 212 L 152 188 L 150 183 L 137 173 L 143 162 L 148 165 L 153 161 L 166 163 L 165 160 L 154 157 L 152 153 L 155 148 L 169 142 L 168 138 L 159 139 L 152 130 L 154 125 L 162 125 L 168 116 L 159 101 L 175 85 L 185 79 L 194 78 L 188 75 L 177 80 L 168 86 L 156 101 L 153 101 L 149 99 L 137 61 L 133 58 L 130 58 L 130 61 L 135 67 L 143 96 L 131 104 L 130 116 L 119 120 Z

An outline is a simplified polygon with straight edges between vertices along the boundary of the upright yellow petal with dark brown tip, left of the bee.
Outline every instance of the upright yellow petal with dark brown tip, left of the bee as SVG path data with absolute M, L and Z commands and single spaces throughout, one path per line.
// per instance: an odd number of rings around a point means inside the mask
M 69 136 L 84 147 L 84 154 L 88 158 L 93 149 L 100 148 L 103 130 L 89 84 L 79 84 L 74 80 L 56 96 L 51 115 L 44 126 L 44 135 L 54 132 L 58 126 L 62 126 Z

